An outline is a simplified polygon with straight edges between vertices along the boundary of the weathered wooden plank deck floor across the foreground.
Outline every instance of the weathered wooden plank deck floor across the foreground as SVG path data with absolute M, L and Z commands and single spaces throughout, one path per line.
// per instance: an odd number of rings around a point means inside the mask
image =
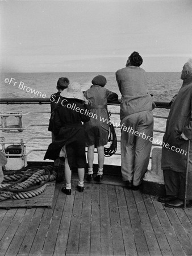
M 52 208 L 0 209 L 0 255 L 192 255 L 192 208 L 164 208 L 115 181 L 76 185 L 66 196 L 56 184 Z

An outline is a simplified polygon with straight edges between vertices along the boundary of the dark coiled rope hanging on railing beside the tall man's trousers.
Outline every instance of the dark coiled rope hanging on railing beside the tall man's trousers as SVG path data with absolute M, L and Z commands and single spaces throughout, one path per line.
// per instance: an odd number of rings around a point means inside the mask
M 109 112 L 109 117 L 111 115 L 111 113 Z M 110 142 L 110 147 L 104 147 L 104 154 L 106 157 L 109 157 L 111 155 L 114 155 L 117 149 L 117 139 L 116 139 L 116 133 L 115 133 L 115 128 L 112 125 L 112 123 L 110 123 L 109 126 L 109 137 L 108 137 L 108 141 Z

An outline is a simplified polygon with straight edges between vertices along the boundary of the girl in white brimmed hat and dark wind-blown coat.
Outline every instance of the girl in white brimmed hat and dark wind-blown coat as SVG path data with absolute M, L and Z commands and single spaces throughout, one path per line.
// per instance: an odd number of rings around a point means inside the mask
M 66 187 L 62 192 L 71 195 L 72 168 L 78 169 L 79 192 L 84 191 L 84 174 L 86 166 L 85 155 L 85 132 L 82 122 L 88 122 L 89 105 L 81 92 L 81 85 L 71 82 L 68 89 L 61 93 L 63 97 L 61 106 L 55 113 L 55 141 L 49 144 L 44 159 L 55 160 L 58 157 L 65 160 L 65 182 Z M 84 104 L 83 104 L 84 102 Z

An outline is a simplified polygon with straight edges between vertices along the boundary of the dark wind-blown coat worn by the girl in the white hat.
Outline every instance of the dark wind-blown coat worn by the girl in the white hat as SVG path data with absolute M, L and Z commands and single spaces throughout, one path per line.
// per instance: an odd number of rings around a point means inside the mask
M 60 106 L 55 113 L 55 131 L 56 138 L 49 144 L 45 153 L 45 159 L 56 160 L 59 158 L 61 148 L 66 145 L 66 155 L 68 156 L 69 167 L 84 168 L 86 166 L 85 155 L 85 132 L 82 122 L 88 122 L 89 109 L 88 105 L 82 104 L 81 100 L 72 98 L 63 98 L 68 102 L 67 108 Z

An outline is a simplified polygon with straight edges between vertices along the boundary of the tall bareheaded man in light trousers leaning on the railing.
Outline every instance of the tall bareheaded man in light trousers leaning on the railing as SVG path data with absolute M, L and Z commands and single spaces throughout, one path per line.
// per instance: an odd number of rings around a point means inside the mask
M 122 94 L 121 171 L 126 187 L 133 190 L 141 185 L 152 146 L 149 139 L 143 139 L 138 134 L 144 133 L 147 138 L 153 136 L 152 109 L 155 104 L 144 84 L 146 79 L 144 69 L 140 68 L 142 63 L 139 53 L 133 52 L 128 57 L 126 67 L 116 71 L 116 81 Z

